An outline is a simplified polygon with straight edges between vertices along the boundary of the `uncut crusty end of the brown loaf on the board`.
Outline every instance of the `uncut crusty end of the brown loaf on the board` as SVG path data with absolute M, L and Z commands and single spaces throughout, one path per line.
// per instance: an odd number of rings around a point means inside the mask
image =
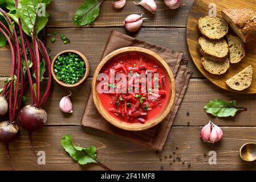
M 256 13 L 253 10 L 245 8 L 225 9 L 221 11 L 221 15 L 244 43 L 255 38 Z

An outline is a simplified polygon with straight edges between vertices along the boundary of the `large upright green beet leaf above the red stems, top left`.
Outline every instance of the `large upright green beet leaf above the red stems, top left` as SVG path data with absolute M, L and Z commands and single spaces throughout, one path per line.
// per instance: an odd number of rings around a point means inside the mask
M 50 2 L 50 0 L 19 1 L 17 16 L 21 19 L 22 29 L 27 35 L 32 36 L 34 26 L 36 35 L 46 26 L 49 14 L 45 8 Z

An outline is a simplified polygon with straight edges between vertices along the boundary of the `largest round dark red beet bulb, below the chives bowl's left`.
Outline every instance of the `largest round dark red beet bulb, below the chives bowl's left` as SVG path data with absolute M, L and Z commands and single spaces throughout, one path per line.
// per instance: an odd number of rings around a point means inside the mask
M 26 131 L 32 133 L 47 121 L 47 113 L 41 108 L 27 105 L 19 113 L 18 121 Z

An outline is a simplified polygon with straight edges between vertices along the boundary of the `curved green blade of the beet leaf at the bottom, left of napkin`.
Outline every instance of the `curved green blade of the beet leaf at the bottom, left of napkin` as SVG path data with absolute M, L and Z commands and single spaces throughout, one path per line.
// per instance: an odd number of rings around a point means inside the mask
M 64 135 L 61 140 L 62 147 L 70 156 L 76 160 L 79 164 L 88 164 L 96 163 L 96 152 L 97 149 L 95 146 L 90 146 L 87 148 L 76 146 L 73 143 L 72 137 L 70 134 Z

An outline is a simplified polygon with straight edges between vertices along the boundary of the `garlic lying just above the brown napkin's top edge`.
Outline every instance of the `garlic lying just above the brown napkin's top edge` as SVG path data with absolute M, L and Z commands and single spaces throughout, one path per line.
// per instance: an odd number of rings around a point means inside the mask
M 143 23 L 143 19 L 147 19 L 147 18 L 142 18 L 142 16 L 143 14 L 141 15 L 131 14 L 127 16 L 127 18 L 125 18 L 124 20 L 124 27 L 126 28 L 126 30 L 128 30 L 129 32 L 135 32 L 139 30 L 139 28 Z

